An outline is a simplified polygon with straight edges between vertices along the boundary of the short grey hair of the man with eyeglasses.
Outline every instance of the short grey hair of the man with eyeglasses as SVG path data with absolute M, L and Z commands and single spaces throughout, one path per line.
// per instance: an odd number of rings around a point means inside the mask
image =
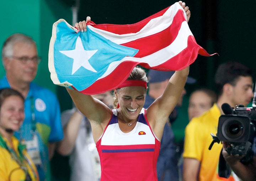
M 36 42 L 30 36 L 21 33 L 15 33 L 9 36 L 4 42 L 2 47 L 2 61 L 4 61 L 5 57 L 10 57 L 13 55 L 13 47 L 17 42 L 26 43 L 29 45 L 33 44 L 36 46 Z

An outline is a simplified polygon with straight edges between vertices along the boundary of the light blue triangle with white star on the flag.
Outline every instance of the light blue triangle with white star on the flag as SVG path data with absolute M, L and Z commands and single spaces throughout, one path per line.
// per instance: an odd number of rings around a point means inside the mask
M 137 49 L 113 43 L 93 32 L 89 27 L 84 33 L 76 33 L 65 22 L 60 22 L 57 25 L 56 36 L 54 67 L 58 79 L 60 82 L 68 81 L 78 91 L 86 89 L 105 74 L 112 62 L 120 61 L 121 63 L 124 57 L 133 57 L 138 52 Z M 80 41 L 79 38 L 82 44 L 80 46 L 84 50 L 77 50 L 76 46 L 78 45 L 76 44 L 77 41 Z M 89 60 L 86 60 L 84 55 L 87 52 L 94 53 L 91 53 L 93 55 L 89 57 Z M 67 56 L 68 54 L 70 57 Z M 76 58 L 71 58 L 72 56 Z M 80 57 L 79 60 L 77 57 Z M 76 68 L 74 69 L 73 66 Z M 81 80 L 83 81 L 81 82 Z

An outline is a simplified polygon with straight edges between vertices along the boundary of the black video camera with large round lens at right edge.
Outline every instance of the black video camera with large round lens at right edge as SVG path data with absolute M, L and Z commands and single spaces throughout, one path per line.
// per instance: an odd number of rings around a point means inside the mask
M 219 117 L 217 137 L 225 141 L 226 151 L 231 155 L 245 155 L 240 162 L 252 161 L 252 145 L 255 136 L 256 107 L 236 106 L 235 109 L 223 105 L 223 112 L 228 113 Z M 224 107 L 224 108 L 223 108 Z M 231 113 L 231 114 L 229 114 Z

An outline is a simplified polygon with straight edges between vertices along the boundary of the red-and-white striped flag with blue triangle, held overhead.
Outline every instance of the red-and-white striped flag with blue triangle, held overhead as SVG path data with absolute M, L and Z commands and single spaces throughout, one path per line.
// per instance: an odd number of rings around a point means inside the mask
M 137 65 L 181 70 L 198 54 L 210 56 L 196 43 L 176 2 L 135 24 L 91 21 L 84 33 L 59 19 L 53 24 L 48 67 L 54 84 L 100 94 L 118 87 Z

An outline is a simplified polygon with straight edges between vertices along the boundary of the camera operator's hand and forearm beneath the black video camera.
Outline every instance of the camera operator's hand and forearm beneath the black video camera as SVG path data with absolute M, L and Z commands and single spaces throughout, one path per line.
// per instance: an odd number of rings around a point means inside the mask
M 222 155 L 226 160 L 226 163 L 230 168 L 235 172 L 235 174 L 241 179 L 246 181 L 255 181 L 256 180 L 256 157 L 254 156 L 252 163 L 242 164 L 239 160 L 245 155 L 230 155 L 226 151 L 226 142 L 222 141 L 223 150 Z

